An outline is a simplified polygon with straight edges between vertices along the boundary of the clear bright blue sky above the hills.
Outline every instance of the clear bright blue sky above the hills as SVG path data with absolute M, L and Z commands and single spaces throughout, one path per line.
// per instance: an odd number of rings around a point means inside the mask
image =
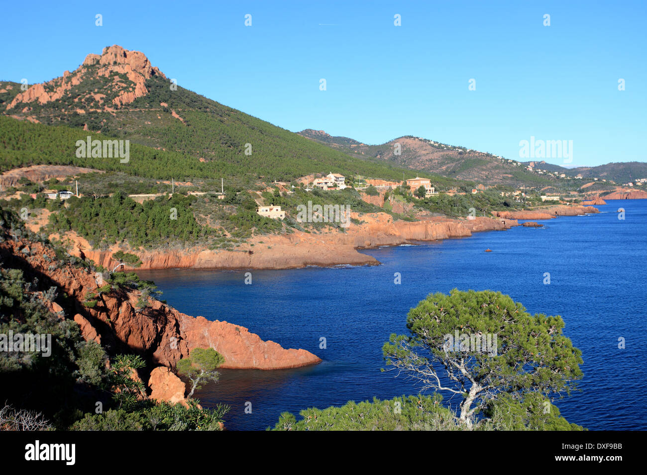
M 118 44 L 291 131 L 422 136 L 515 160 L 534 136 L 572 140 L 571 165 L 645 162 L 646 31 L 645 1 L 38 0 L 3 6 L 0 79 L 46 81 Z

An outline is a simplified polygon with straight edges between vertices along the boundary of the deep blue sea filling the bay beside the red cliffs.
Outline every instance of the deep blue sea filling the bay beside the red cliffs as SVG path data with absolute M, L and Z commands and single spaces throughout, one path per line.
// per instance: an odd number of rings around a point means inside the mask
M 541 228 L 362 251 L 380 266 L 256 270 L 251 285 L 245 271 L 139 274 L 184 313 L 240 324 L 323 359 L 293 370 L 221 370 L 220 381 L 195 396 L 207 407 L 229 405 L 231 430 L 265 429 L 285 411 L 417 394 L 410 379 L 380 372 L 382 344 L 391 333 L 406 333 L 407 312 L 426 295 L 452 288 L 501 291 L 531 313 L 561 315 L 584 359 L 580 391 L 554 400 L 562 416 L 591 430 L 645 430 L 647 200 L 598 209 L 540 221 Z M 401 284 L 394 283 L 397 272 Z M 460 403 L 444 397 L 452 407 Z

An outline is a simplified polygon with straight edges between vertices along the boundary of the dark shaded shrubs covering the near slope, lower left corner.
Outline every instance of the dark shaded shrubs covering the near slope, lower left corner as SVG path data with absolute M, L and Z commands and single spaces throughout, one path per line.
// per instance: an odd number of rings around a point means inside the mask
M 0 208 L 0 242 L 11 238 L 37 239 L 14 214 Z M 58 251 L 57 251 L 58 254 Z M 141 383 L 133 371 L 146 370 L 137 355 L 115 354 L 108 366 L 107 350 L 85 341 L 79 326 L 49 310 L 56 301 L 63 308 L 82 308 L 82 302 L 58 295 L 58 288 L 10 253 L 0 253 L 0 335 L 51 335 L 41 351 L 14 348 L 0 351 L 1 427 L 57 430 L 219 430 L 228 408 L 201 409 L 197 401 L 180 404 L 140 401 Z M 65 257 L 58 266 L 74 264 Z M 19 267 L 18 267 L 19 266 Z M 115 273 L 111 286 L 146 284 L 136 276 Z M 99 291 L 99 290 L 98 290 Z M 88 297 L 88 296 L 86 296 Z M 47 388 L 47 390 L 43 390 Z M 6 402 L 5 402 L 6 401 Z M 97 411 L 100 412 L 97 414 Z M 28 419 L 28 425 L 19 420 Z M 6 424 L 6 426 L 5 426 Z

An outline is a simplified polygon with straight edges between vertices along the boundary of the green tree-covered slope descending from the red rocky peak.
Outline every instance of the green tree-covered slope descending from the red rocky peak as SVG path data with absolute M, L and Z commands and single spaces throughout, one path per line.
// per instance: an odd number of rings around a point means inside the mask
M 52 124 L 49 126 L 1 116 L 0 171 L 32 164 L 65 164 L 164 180 L 224 177 L 230 184 L 245 186 L 261 177 L 290 182 L 329 170 L 347 176 L 402 176 L 404 169 L 381 160 L 352 158 L 181 87 L 170 91 L 163 79 L 151 78 L 146 87 L 147 96 L 118 109 L 115 116 L 107 112 L 91 112 L 79 118 L 61 114 L 65 105 L 60 101 L 43 105 L 47 111 L 36 108 L 30 112 L 39 118 L 55 118 L 45 120 Z M 186 125 L 173 118 L 170 111 L 162 111 L 162 101 L 168 103 L 168 109 L 178 111 Z M 97 136 L 80 128 L 56 125 L 66 120 L 77 127 L 93 121 L 89 128 L 102 133 Z M 77 158 L 76 141 L 85 140 L 88 135 L 130 140 L 129 162 Z M 245 154 L 247 143 L 251 144 L 251 155 Z

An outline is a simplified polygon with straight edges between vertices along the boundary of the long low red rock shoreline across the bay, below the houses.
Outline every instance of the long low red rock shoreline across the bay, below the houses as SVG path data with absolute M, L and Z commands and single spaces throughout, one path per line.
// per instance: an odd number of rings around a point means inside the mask
M 146 251 L 123 249 L 136 253 L 142 261 L 139 269 L 293 269 L 306 266 L 378 265 L 377 259 L 360 253 L 360 249 L 400 246 L 412 242 L 469 237 L 481 231 L 503 231 L 521 226 L 518 220 L 543 220 L 556 216 L 598 213 L 591 206 L 558 206 L 542 211 L 499 211 L 498 218 L 476 216 L 454 219 L 420 215 L 416 221 L 393 220 L 387 213 L 355 215 L 360 224 L 351 224 L 345 232 L 322 233 L 295 231 L 289 235 L 263 235 L 252 238 L 236 251 L 205 248 Z M 528 226 L 527 226 L 528 227 Z M 94 260 L 104 268 L 118 262 L 112 255 L 120 248 L 106 251 L 92 249 L 83 238 L 67 236 L 74 241 L 71 253 Z

